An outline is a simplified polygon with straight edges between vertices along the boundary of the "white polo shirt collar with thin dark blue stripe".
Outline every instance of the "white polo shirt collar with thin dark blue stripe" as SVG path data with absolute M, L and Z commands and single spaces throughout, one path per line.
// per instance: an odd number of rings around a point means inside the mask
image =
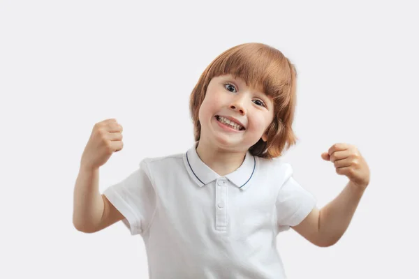
M 202 187 L 221 178 L 221 176 L 205 165 L 199 158 L 198 153 L 196 152 L 196 146 L 198 146 L 198 142 L 195 142 L 193 146 L 184 153 L 184 164 L 191 179 L 193 179 L 198 186 Z M 253 176 L 256 171 L 256 161 L 256 157 L 252 156 L 251 153 L 247 151 L 242 165 L 234 172 L 231 172 L 224 177 L 238 188 L 246 190 L 254 181 Z

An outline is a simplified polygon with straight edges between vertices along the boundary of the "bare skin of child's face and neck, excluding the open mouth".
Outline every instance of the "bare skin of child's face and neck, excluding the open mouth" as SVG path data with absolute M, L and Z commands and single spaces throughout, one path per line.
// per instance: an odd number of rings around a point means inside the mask
M 226 128 L 216 116 L 230 116 L 244 130 Z M 247 86 L 233 75 L 213 77 L 199 110 L 201 134 L 198 156 L 217 174 L 224 176 L 242 165 L 247 150 L 260 138 L 274 117 L 272 100 L 260 89 Z

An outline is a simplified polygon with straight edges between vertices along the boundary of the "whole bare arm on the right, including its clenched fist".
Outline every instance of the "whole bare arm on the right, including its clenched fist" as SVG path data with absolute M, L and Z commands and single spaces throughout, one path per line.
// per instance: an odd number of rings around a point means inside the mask
M 348 177 L 341 193 L 321 210 L 314 208 L 302 222 L 293 227 L 316 246 L 337 243 L 351 222 L 353 213 L 369 184 L 369 167 L 358 149 L 351 144 L 334 144 L 323 160 L 335 163 L 337 174 Z

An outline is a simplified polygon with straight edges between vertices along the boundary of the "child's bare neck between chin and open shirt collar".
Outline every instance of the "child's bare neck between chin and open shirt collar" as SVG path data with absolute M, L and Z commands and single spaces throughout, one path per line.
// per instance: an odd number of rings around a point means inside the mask
M 196 153 L 205 165 L 220 176 L 225 176 L 238 169 L 246 156 L 246 152 L 226 151 L 209 144 L 203 144 L 201 141 L 198 142 Z

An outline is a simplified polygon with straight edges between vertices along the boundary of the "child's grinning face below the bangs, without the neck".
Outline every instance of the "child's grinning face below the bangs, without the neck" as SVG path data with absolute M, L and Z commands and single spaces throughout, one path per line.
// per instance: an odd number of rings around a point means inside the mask
M 234 118 L 242 127 L 233 128 L 219 116 Z M 267 140 L 265 130 L 273 118 L 272 99 L 263 91 L 248 87 L 239 77 L 221 75 L 212 78 L 200 106 L 200 138 L 226 149 L 247 151 L 260 138 Z

